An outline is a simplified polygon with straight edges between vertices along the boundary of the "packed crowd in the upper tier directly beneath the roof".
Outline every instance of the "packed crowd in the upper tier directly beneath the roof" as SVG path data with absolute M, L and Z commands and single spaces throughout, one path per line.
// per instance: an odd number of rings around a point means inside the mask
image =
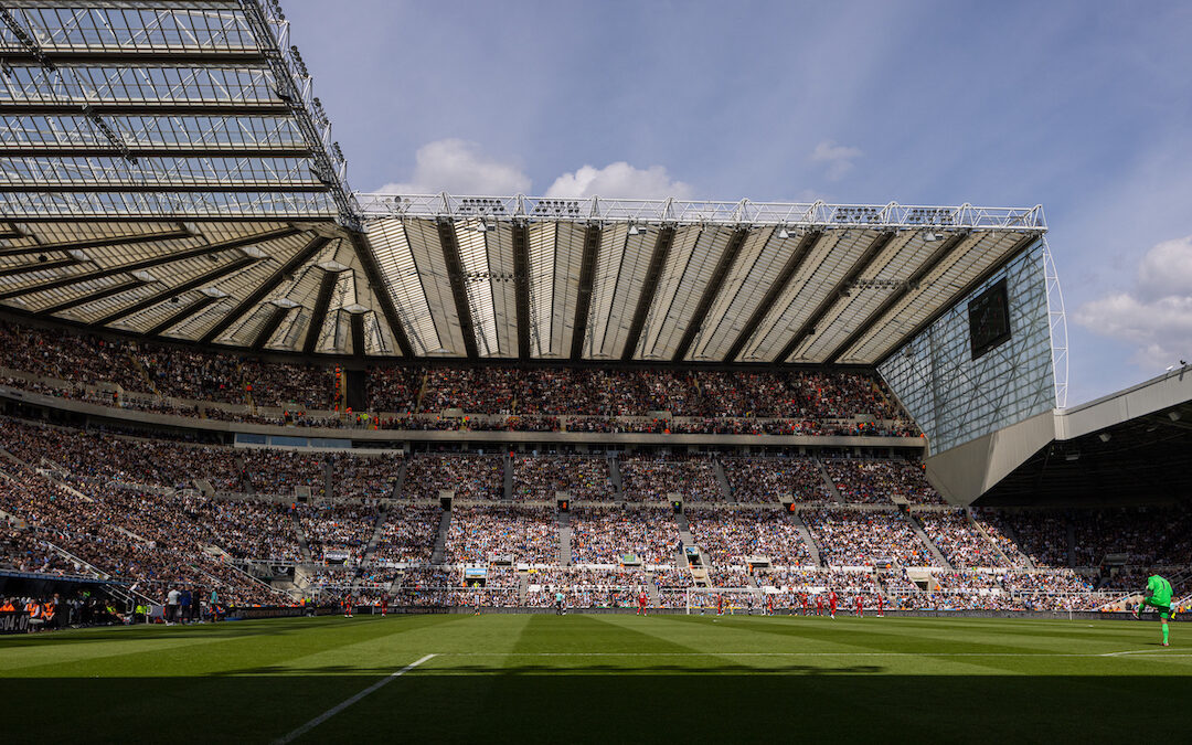
M 94 398 L 107 405 L 254 423 L 353 423 L 339 416 L 346 411 L 344 397 L 333 367 L 155 342 L 112 341 L 7 321 L 0 322 L 0 367 L 62 381 L 5 378 L 10 385 Z M 119 386 L 123 396 L 113 397 L 106 387 L 103 392 L 83 390 L 97 385 Z M 378 366 L 368 370 L 365 389 L 368 411 L 385 412 L 386 428 L 435 427 L 412 415 L 461 410 L 511 417 L 464 424 L 478 429 L 552 430 L 560 428 L 557 417 L 581 416 L 596 418 L 576 421 L 570 430 L 604 432 L 610 427 L 620 432 L 718 434 L 918 434 L 879 378 L 850 371 Z M 247 408 L 200 408 L 194 402 Z M 285 414 L 259 412 L 256 406 L 284 409 Z M 333 410 L 334 417 L 306 414 Z M 611 418 L 653 417 L 656 412 L 666 416 L 639 423 Z M 380 427 L 380 417 L 373 423 Z M 460 421 L 452 423 L 451 428 L 460 427 Z

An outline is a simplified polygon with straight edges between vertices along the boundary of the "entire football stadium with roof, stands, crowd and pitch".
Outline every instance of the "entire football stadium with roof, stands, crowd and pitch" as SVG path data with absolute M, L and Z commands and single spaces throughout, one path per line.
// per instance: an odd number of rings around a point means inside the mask
M 1041 205 L 364 193 L 277 0 L 0 18 L 6 737 L 1180 737 Z

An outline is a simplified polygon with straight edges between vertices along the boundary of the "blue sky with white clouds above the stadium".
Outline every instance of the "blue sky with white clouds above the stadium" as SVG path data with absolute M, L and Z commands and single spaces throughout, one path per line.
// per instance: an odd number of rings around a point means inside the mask
M 354 188 L 1043 204 L 1069 404 L 1192 358 L 1192 4 L 284 7 Z

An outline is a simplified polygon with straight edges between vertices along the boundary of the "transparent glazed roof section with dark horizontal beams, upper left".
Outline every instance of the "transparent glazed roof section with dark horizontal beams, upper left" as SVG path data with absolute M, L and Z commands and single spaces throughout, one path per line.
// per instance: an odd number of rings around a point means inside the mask
M 275 4 L 15 0 L 5 8 L 0 212 L 350 212 L 342 159 Z

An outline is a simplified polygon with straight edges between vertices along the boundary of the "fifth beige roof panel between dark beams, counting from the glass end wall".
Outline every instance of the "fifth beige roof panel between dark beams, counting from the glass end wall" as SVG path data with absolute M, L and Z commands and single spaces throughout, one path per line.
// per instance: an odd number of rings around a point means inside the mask
M 675 355 L 732 232 L 716 225 L 678 229 L 646 316 L 637 359 L 669 360 Z

